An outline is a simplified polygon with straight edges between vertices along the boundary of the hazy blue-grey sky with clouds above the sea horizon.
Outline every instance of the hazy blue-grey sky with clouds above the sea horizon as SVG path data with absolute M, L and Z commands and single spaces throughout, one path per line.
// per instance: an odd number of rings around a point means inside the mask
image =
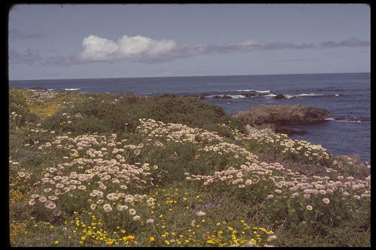
M 9 80 L 371 71 L 366 4 L 14 5 Z

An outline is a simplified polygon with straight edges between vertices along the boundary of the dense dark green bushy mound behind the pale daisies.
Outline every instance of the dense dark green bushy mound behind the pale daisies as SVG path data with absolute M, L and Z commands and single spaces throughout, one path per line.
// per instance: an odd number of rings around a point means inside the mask
M 64 113 L 69 115 L 63 115 Z M 229 137 L 232 136 L 230 130 L 217 124 L 244 130 L 219 106 L 207 104 L 194 97 L 160 94 L 141 98 L 130 93 L 111 96 L 98 94 L 95 98 L 89 97 L 86 101 L 75 104 L 73 108 L 67 107 L 47 117 L 43 126 L 72 133 L 111 131 L 122 134 L 135 131 L 139 118 L 185 124 L 217 131 L 220 135 Z M 69 121 L 71 123 L 68 124 Z

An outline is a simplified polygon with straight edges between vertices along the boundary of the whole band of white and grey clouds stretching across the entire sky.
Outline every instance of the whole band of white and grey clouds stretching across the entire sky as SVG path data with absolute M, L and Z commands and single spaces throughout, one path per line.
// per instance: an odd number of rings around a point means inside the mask
M 295 44 L 284 42 L 262 42 L 258 39 L 249 39 L 240 42 L 215 45 L 207 43 L 178 44 L 174 40 L 155 40 L 143 36 L 122 36 L 117 41 L 90 35 L 83 39 L 82 50 L 69 57 L 48 57 L 43 60 L 43 65 L 71 65 L 87 62 L 115 62 L 131 60 L 133 62 L 159 63 L 170 62 L 176 59 L 190 58 L 211 53 L 236 53 L 249 51 L 266 51 L 282 49 L 312 49 L 312 48 L 335 48 L 366 47 L 369 41 L 360 41 L 357 38 L 349 38 L 342 42 L 323 42 L 319 46 L 314 44 Z M 16 51 L 10 52 L 10 62 L 32 63 L 39 61 L 39 51 L 28 49 L 26 54 L 20 55 Z

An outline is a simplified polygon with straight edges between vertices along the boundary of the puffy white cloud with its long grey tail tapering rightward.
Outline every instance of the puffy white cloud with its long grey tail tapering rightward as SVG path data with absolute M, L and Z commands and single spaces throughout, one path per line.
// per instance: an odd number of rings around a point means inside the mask
M 154 40 L 143 36 L 122 36 L 118 41 L 91 35 L 84 38 L 83 50 L 71 59 L 76 62 L 120 61 L 133 60 L 144 63 L 173 61 L 179 58 L 189 58 L 206 55 L 213 52 L 234 53 L 260 50 L 307 49 L 313 44 L 261 42 L 250 39 L 241 42 L 227 43 L 222 46 L 206 43 L 179 45 L 174 40 Z

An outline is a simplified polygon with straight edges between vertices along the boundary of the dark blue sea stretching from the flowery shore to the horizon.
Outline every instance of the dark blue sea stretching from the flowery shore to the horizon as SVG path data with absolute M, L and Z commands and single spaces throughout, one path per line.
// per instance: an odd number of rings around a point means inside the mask
M 228 114 L 249 110 L 258 104 L 324 108 L 330 111 L 332 119 L 315 125 L 290 126 L 309 132 L 291 137 L 320 144 L 334 155 L 359 154 L 363 161 L 371 163 L 370 73 L 22 80 L 10 81 L 9 86 L 92 93 L 133 92 L 145 96 L 205 93 L 208 94 L 205 101 L 218 104 Z M 242 96 L 246 93 L 256 96 Z M 296 98 L 275 100 L 276 94 Z M 214 95 L 233 98 L 215 99 Z

